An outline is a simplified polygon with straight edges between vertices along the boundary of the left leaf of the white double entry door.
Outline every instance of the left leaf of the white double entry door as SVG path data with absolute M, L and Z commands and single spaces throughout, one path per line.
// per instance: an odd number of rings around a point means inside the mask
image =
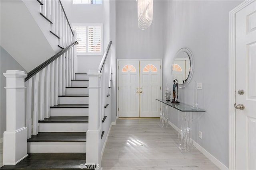
M 118 62 L 119 117 L 139 117 L 139 61 Z

